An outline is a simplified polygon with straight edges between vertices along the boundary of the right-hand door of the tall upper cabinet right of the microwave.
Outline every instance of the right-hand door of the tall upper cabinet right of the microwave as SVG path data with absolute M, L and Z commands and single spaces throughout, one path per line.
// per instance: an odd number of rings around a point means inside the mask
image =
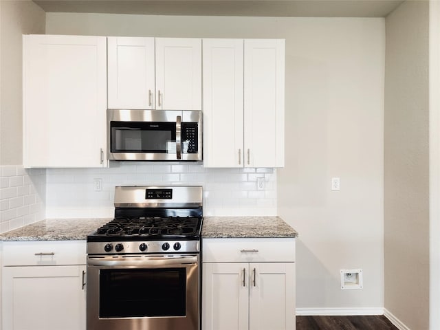
M 245 166 L 284 166 L 285 41 L 245 39 Z

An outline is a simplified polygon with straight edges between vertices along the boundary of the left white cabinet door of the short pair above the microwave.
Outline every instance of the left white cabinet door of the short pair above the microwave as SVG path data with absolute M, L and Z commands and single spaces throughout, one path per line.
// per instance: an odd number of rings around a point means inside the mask
M 154 38 L 108 37 L 109 109 L 154 109 Z

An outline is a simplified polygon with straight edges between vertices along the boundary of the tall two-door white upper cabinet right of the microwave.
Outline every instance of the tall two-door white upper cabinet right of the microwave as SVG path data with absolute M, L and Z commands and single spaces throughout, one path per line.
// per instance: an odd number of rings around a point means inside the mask
M 285 41 L 203 39 L 203 166 L 284 166 Z

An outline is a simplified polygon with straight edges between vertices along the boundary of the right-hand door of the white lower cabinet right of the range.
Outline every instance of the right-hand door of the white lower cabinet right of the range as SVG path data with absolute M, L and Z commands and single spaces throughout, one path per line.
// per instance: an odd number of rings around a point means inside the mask
M 250 263 L 250 329 L 294 330 L 295 263 Z

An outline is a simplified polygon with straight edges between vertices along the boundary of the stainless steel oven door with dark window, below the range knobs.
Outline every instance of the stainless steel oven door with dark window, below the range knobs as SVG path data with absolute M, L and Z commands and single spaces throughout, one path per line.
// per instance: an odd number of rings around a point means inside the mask
M 88 330 L 199 330 L 199 255 L 89 256 Z

